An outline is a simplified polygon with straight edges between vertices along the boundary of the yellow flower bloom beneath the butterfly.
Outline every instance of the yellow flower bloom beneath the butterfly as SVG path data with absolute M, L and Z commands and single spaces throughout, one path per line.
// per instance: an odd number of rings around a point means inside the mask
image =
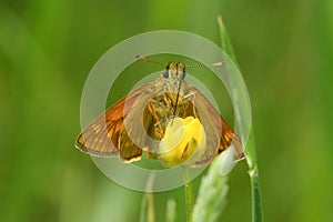
M 160 143 L 160 160 L 165 167 L 190 165 L 203 153 L 204 145 L 204 129 L 198 118 L 174 118 Z

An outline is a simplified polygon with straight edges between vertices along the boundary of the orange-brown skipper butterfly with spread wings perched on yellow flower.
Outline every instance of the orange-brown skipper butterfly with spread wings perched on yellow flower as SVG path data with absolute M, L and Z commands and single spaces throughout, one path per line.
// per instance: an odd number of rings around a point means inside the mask
M 161 64 L 142 56 L 138 58 Z M 75 147 L 92 155 L 117 155 L 123 162 L 140 160 L 143 151 L 148 158 L 159 159 L 158 144 L 168 121 L 174 117 L 194 117 L 204 128 L 206 144 L 192 167 L 209 164 L 231 144 L 233 159 L 243 159 L 240 137 L 204 94 L 186 83 L 186 67 L 190 65 L 182 62 L 168 63 L 160 78 L 139 87 L 92 121 L 78 137 Z

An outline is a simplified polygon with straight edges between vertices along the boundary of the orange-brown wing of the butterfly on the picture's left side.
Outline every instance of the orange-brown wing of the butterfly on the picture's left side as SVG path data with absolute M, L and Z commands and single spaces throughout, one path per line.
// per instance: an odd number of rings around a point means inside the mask
M 160 87 L 161 80 L 140 87 L 109 108 L 103 114 L 88 125 L 77 139 L 75 145 L 90 154 L 100 157 L 119 155 L 125 162 L 131 162 L 141 158 L 142 148 L 145 144 L 147 133 L 135 129 L 140 113 L 150 98 L 155 93 L 155 88 Z M 141 111 L 141 112 L 140 112 Z M 145 118 L 150 119 L 150 113 Z M 124 127 L 124 120 L 129 124 Z M 131 137 L 129 137 L 130 131 Z M 133 137 L 135 141 L 132 141 Z

